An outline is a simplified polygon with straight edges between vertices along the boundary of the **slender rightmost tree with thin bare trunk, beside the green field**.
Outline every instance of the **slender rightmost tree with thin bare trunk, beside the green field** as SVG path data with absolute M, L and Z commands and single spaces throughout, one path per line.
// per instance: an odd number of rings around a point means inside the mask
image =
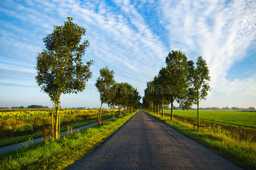
M 188 88 L 187 105 L 196 104 L 198 107 L 198 128 L 199 128 L 199 103 L 206 100 L 207 92 L 211 90 L 209 86 L 209 70 L 206 61 L 202 56 L 198 57 L 196 67 L 192 61 L 189 62 L 191 87 Z

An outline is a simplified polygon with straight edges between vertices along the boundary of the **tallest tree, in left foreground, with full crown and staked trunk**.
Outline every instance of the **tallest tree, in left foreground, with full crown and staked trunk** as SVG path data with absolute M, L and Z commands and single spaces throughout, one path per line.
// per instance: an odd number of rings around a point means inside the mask
M 91 78 L 90 60 L 84 65 L 82 56 L 89 42 L 84 40 L 85 28 L 72 22 L 72 17 L 61 26 L 54 26 L 53 32 L 43 39 L 45 48 L 36 57 L 36 82 L 41 91 L 47 93 L 54 103 L 52 128 L 56 139 L 60 134 L 60 96 L 85 90 L 86 82 Z

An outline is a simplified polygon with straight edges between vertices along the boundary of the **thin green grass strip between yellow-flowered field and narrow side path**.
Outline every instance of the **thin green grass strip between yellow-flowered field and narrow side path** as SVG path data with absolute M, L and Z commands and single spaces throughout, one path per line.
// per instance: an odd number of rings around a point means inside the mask
M 119 115 L 119 113 L 115 113 L 115 116 L 118 116 L 118 115 Z M 113 117 L 112 115 L 109 115 L 109 116 L 104 116 L 102 118 L 105 120 L 107 118 L 112 118 L 112 117 Z M 65 124 L 64 126 L 61 126 L 60 131 L 61 132 L 66 131 L 68 129 L 68 126 L 72 126 L 72 128 L 74 129 L 74 128 L 79 128 L 81 126 L 93 124 L 95 122 L 98 122 L 98 118 L 94 118 L 94 119 L 91 119 L 91 120 L 86 120 L 86 121 L 83 121 L 83 122 L 74 122 L 74 123 L 70 122 L 70 124 Z M 43 129 L 40 130 L 40 131 L 36 131 L 35 133 L 32 133 L 32 134 L 1 139 L 0 140 L 0 147 L 12 145 L 12 144 L 20 143 L 20 142 L 24 142 L 24 141 L 28 141 L 29 139 L 41 138 L 42 134 L 43 134 Z

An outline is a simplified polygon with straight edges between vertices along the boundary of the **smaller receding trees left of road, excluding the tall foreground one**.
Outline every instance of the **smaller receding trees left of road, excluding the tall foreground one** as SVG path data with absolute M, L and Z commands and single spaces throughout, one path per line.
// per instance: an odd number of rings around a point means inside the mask
M 116 83 L 114 79 L 114 71 L 104 67 L 99 70 L 100 76 L 96 79 L 95 86 L 98 88 L 100 94 L 100 112 L 98 113 L 99 125 L 102 124 L 102 104 L 108 104 L 108 107 L 119 107 L 119 115 L 121 114 L 120 108 L 124 108 L 124 113 L 128 109 L 132 112 L 133 109 L 139 107 L 140 95 L 137 88 L 132 87 L 129 83 Z M 113 111 L 114 116 L 114 111 Z

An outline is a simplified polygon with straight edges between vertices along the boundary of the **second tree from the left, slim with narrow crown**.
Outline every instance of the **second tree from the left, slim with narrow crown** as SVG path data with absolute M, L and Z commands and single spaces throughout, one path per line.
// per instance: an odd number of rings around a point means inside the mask
M 114 71 L 109 70 L 106 66 L 99 70 L 100 76 L 96 79 L 95 86 L 98 88 L 100 94 L 100 111 L 98 113 L 99 125 L 102 124 L 102 104 L 109 103 L 111 100 L 111 87 L 114 86 Z

